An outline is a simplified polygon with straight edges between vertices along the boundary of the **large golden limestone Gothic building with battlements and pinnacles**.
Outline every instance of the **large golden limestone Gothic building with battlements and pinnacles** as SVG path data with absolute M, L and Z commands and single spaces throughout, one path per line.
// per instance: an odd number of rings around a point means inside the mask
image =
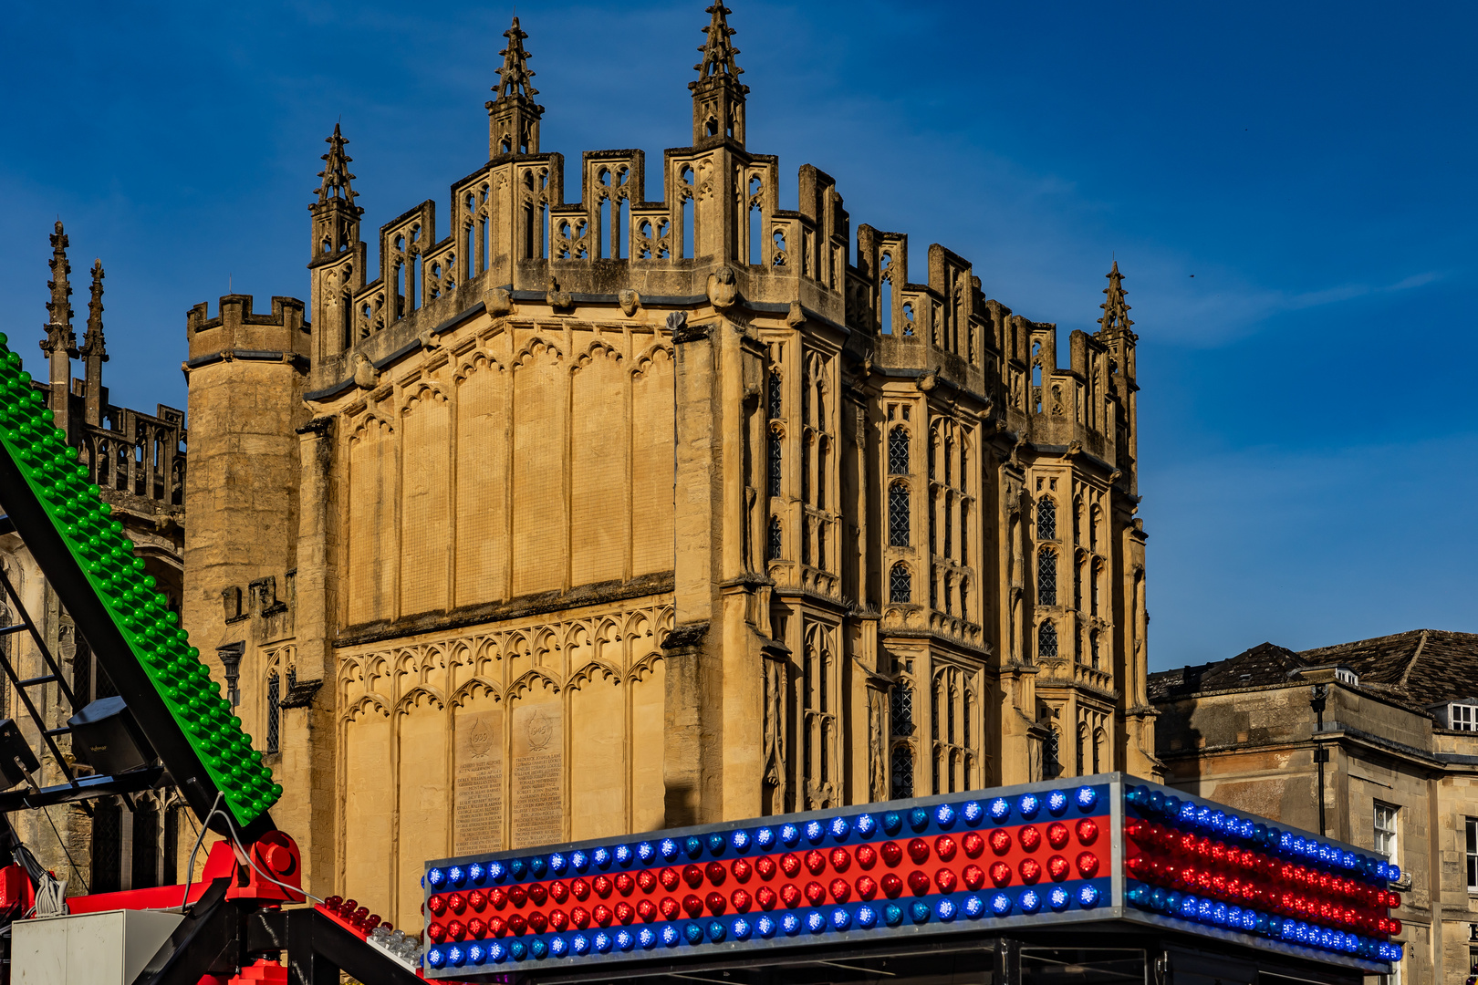
M 1060 366 L 822 171 L 780 210 L 708 12 L 659 201 L 539 146 L 514 21 L 448 232 L 371 269 L 336 128 L 306 310 L 191 313 L 185 625 L 318 893 L 415 924 L 452 852 L 1159 772 L 1117 267 Z

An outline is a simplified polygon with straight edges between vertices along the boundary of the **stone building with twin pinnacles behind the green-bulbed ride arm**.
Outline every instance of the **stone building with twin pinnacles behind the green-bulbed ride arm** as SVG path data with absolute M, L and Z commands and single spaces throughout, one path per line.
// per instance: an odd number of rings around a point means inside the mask
M 78 347 L 72 328 L 68 245 L 58 222 L 52 233 L 52 279 L 47 284 L 50 318 L 41 338 L 47 381 L 41 382 L 37 374 L 31 385 L 46 394 L 56 425 L 67 433 L 90 478 L 102 489 L 114 518 L 123 523 L 145 561 L 145 572 L 155 579 L 171 608 L 179 611 L 185 542 L 185 413 L 164 405 L 158 405 L 155 413 L 143 413 L 109 403 L 108 387 L 102 384 L 102 365 L 108 362 L 102 323 L 102 261 L 92 267 L 87 328 Z M 12 335 L 12 349 L 18 349 L 16 341 Z M 83 363 L 81 380 L 72 378 L 72 360 Z M 0 489 L 3 511 L 4 490 Z M 0 675 L 0 718 L 13 718 L 40 758 L 41 775 L 37 780 L 41 786 L 67 783 L 28 703 L 46 730 L 62 730 L 74 709 L 117 691 L 93 660 L 86 638 L 78 635 L 19 533 L 0 533 L 0 574 L 21 598 L 21 605 L 16 605 L 10 591 L 0 588 L 0 628 L 22 626 L 24 608 L 40 629 L 46 650 L 56 659 L 64 678 L 64 684 L 50 679 L 30 632 L 16 629 L 0 634 L 0 657 L 16 675 Z M 35 684 L 25 687 L 22 696 L 18 681 Z M 75 761 L 69 735 L 55 734 L 50 741 L 77 775 L 90 772 L 86 761 Z M 183 802 L 171 786 L 134 794 L 132 805 L 106 797 L 90 809 L 89 815 L 81 806 L 58 805 L 44 812 L 19 811 L 7 817 L 41 861 L 59 879 L 68 880 L 69 893 L 158 886 L 176 880 Z

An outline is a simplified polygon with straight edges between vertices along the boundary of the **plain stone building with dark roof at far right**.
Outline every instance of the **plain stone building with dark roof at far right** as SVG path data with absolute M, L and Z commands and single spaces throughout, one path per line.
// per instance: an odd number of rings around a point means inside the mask
M 1401 867 L 1404 985 L 1478 967 L 1478 635 L 1265 642 L 1153 673 L 1150 699 L 1165 783 Z

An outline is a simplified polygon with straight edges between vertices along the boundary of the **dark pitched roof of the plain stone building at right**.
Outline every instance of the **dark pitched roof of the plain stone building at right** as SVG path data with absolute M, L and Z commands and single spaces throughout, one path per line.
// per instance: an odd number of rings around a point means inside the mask
M 1411 629 L 1301 653 L 1264 642 L 1227 660 L 1151 673 L 1150 700 L 1268 687 L 1336 663 L 1354 670 L 1363 690 L 1417 709 L 1478 694 L 1478 634 Z

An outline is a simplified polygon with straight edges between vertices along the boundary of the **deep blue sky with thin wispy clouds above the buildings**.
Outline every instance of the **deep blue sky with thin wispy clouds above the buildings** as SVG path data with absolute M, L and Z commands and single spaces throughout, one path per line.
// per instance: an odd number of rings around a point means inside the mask
M 704 0 L 519 15 L 579 152 L 690 137 Z M 730 0 L 749 148 L 937 241 L 1018 313 L 1140 332 L 1154 667 L 1478 631 L 1478 7 Z M 511 4 L 10 4 L 0 331 L 40 369 L 47 232 L 108 269 L 117 402 L 183 406 L 185 310 L 304 297 L 343 120 L 372 230 L 486 159 Z M 445 220 L 443 220 L 445 222 Z M 1191 276 L 1194 275 L 1194 276 Z M 44 372 L 44 371 L 43 371 Z

